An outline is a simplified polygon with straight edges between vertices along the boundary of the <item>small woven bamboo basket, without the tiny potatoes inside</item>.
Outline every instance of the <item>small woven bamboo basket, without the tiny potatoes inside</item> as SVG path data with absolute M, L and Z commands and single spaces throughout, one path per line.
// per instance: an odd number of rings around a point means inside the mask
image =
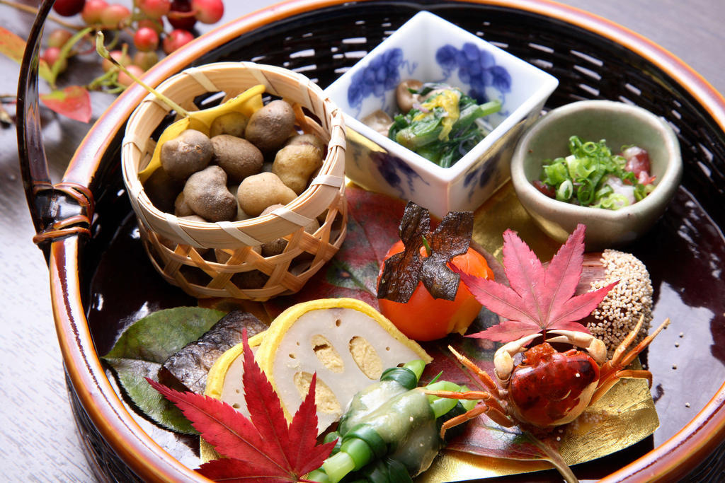
M 170 107 L 149 94 L 131 114 L 123 139 L 123 181 L 128 189 L 144 248 L 167 282 L 197 298 L 233 297 L 264 301 L 297 292 L 323 266 L 344 240 L 345 135 L 342 113 L 304 75 L 250 62 L 218 62 L 191 67 L 165 80 L 157 91 L 194 111 L 199 96 L 221 92 L 223 101 L 254 85 L 296 108 L 297 127 L 328 145 L 318 175 L 294 201 L 263 217 L 239 222 L 194 222 L 175 217 L 152 204 L 139 180 L 152 158 L 159 125 Z M 310 114 L 311 113 L 311 114 Z M 305 232 L 312 219 L 320 229 Z M 255 247 L 284 238 L 283 253 L 262 256 Z

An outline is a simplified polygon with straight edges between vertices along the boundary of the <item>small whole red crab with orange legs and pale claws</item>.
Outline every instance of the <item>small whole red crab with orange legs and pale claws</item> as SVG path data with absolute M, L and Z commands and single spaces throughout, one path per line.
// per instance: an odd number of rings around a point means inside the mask
M 499 384 L 486 371 L 468 358 L 450 348 L 458 360 L 476 374 L 487 391 L 447 392 L 429 394 L 443 398 L 476 400 L 475 408 L 446 421 L 441 437 L 447 429 L 486 414 L 497 424 L 512 427 L 515 424 L 542 429 L 566 424 L 597 402 L 619 379 L 647 379 L 652 385 L 650 371 L 625 369 L 649 345 L 660 330 L 669 324 L 666 319 L 651 335 L 628 351 L 629 345 L 642 326 L 639 320 L 629 335 L 616 348 L 607 361 L 605 344 L 593 335 L 571 330 L 550 330 L 546 335 L 555 337 L 526 349 L 541 333 L 527 335 L 502 345 L 494 354 L 494 374 Z M 551 343 L 567 343 L 572 348 L 558 352 Z M 516 365 L 513 356 L 523 352 L 523 360 Z

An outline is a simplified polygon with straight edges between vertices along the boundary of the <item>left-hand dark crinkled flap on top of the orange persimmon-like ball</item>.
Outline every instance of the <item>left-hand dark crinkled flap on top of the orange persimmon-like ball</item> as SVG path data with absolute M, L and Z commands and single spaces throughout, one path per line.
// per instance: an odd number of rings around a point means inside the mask
M 385 261 L 378 283 L 378 298 L 405 303 L 421 280 L 423 237 L 431 228 L 431 215 L 413 201 L 405 206 L 398 232 L 405 249 Z

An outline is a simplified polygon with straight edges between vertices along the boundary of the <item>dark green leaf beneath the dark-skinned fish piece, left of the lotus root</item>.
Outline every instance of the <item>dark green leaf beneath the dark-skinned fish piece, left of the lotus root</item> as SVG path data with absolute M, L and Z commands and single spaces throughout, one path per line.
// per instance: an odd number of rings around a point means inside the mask
M 154 312 L 128 327 L 103 359 L 146 416 L 168 429 L 196 434 L 181 411 L 149 386 L 145 378 L 158 381 L 161 364 L 204 335 L 223 316 L 222 311 L 199 307 Z

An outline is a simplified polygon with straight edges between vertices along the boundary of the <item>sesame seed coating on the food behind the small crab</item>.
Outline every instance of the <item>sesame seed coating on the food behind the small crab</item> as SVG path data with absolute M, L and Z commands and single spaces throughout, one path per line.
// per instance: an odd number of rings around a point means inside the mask
M 605 269 L 604 277 L 592 281 L 590 290 L 597 290 L 617 280 L 619 283 L 592 312 L 587 327 L 592 335 L 607 345 L 608 356 L 611 357 L 640 317 L 645 320 L 634 343 L 639 343 L 647 336 L 653 319 L 653 288 L 647 267 L 631 253 L 605 250 L 600 261 Z

